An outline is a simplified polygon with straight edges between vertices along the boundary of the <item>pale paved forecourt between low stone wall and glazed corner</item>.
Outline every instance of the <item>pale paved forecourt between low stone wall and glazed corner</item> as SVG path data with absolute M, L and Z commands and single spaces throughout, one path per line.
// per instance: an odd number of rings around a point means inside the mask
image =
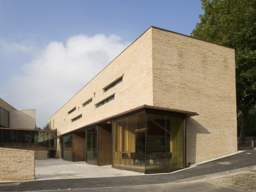
M 62 159 L 35 161 L 36 180 L 79 179 L 95 177 L 118 177 L 144 175 L 143 173 L 117 170 L 108 166 L 86 164 L 84 161 L 70 162 Z

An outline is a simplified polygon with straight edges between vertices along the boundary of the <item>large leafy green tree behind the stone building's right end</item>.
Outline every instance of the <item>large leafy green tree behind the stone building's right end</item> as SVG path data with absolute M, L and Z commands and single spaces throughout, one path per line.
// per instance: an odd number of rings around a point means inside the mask
M 204 15 L 191 36 L 236 49 L 237 112 L 245 141 L 248 112 L 256 102 L 256 0 L 201 0 Z

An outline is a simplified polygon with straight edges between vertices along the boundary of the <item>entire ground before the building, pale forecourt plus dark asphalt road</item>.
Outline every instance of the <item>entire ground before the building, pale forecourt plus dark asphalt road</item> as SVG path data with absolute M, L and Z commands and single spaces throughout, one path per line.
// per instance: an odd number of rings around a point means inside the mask
M 36 161 L 36 180 L 0 183 L 0 191 L 256 191 L 256 150 L 172 173 L 148 174 L 61 159 Z

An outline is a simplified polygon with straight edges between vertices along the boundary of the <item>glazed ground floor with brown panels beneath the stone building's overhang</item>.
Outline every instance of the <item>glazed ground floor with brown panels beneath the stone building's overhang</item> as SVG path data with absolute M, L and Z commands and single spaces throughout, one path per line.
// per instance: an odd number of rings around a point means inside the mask
M 105 121 L 64 135 L 63 159 L 144 173 L 184 168 L 186 114 L 156 109 L 133 114 L 112 120 L 112 129 Z

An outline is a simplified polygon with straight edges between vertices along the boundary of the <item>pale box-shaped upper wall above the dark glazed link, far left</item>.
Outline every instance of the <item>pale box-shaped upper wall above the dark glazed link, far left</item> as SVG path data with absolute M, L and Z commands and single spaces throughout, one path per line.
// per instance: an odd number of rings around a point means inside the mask
M 9 127 L 19 129 L 35 129 L 36 110 L 20 110 L 9 112 Z

